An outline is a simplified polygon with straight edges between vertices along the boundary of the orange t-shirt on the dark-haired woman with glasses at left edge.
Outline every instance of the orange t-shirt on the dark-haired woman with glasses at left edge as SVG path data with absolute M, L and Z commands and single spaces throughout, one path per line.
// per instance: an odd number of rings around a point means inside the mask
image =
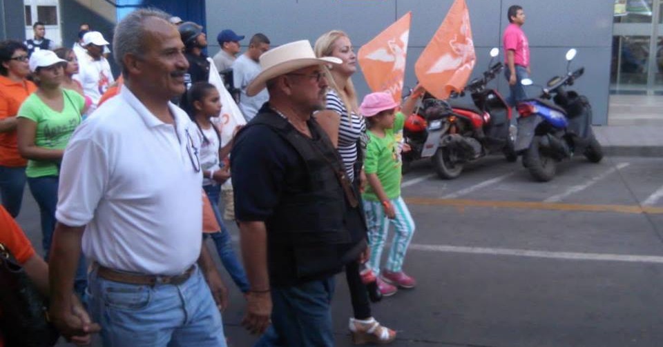
M 28 95 L 37 90 L 35 83 L 30 81 L 15 82 L 0 75 L 0 121 L 15 117 L 21 103 Z M 0 166 L 26 166 L 28 161 L 19 155 L 16 130 L 0 132 Z

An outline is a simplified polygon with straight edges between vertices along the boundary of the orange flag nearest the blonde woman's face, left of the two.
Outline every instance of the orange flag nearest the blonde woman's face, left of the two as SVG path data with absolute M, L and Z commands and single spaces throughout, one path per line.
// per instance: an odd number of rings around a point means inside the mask
M 359 48 L 358 61 L 368 86 L 374 92 L 390 92 L 401 102 L 407 39 L 410 37 L 412 12 Z

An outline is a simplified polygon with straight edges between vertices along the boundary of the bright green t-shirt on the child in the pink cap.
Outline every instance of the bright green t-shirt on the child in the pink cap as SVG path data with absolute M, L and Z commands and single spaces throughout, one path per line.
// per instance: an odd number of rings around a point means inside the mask
M 385 137 L 377 137 L 370 130 L 367 132 L 368 143 L 364 171 L 366 174 L 378 175 L 389 199 L 401 196 L 401 153 L 398 150 L 396 134 L 403 130 L 403 123 L 405 123 L 405 115 L 396 112 L 394 128 L 385 130 Z M 379 201 L 370 185 L 367 185 L 362 197 L 368 201 Z

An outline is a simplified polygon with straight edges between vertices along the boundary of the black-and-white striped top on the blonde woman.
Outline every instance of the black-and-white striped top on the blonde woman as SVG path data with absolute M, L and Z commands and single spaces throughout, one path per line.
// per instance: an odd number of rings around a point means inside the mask
M 354 163 L 357 161 L 357 141 L 365 135 L 366 123 L 364 117 L 352 112 L 352 123 L 347 116 L 347 108 L 340 99 L 336 90 L 327 92 L 327 110 L 332 110 L 340 115 L 340 126 L 338 128 L 338 153 L 345 172 L 350 181 L 354 181 Z

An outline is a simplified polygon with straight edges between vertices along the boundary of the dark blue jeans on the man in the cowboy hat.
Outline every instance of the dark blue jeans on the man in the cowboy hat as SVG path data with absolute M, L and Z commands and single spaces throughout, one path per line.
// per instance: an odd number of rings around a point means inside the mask
M 334 276 L 298 286 L 272 287 L 271 326 L 254 347 L 334 346 Z

